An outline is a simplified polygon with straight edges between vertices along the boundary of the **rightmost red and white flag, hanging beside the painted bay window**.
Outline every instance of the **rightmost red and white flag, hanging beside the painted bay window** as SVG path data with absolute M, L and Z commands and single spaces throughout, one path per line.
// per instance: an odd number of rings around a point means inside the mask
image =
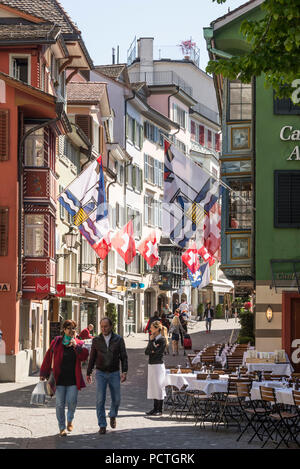
M 221 206 L 216 202 L 204 219 L 204 246 L 211 256 L 220 260 Z

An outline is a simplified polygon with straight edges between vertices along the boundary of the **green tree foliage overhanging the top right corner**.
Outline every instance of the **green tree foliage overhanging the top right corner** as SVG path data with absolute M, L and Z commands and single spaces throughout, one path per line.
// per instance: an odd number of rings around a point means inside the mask
M 225 3 L 226 0 L 212 0 Z M 265 75 L 278 97 L 291 97 L 300 79 L 300 0 L 265 0 L 264 17 L 244 20 L 241 33 L 250 51 L 232 59 L 209 61 L 206 71 L 249 83 Z

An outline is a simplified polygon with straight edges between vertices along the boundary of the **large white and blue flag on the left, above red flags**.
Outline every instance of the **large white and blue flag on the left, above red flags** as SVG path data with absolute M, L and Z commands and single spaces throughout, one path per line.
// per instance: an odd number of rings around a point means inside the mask
M 109 231 L 101 157 L 92 161 L 60 194 L 58 200 L 72 216 L 73 224 L 95 248 Z

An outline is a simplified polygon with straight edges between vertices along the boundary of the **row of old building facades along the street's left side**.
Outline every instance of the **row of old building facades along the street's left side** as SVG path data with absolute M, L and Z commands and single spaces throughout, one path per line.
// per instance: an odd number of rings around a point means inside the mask
M 127 335 L 175 299 L 196 312 L 232 289 L 218 263 L 208 288 L 192 289 L 182 251 L 162 233 L 164 138 L 219 175 L 213 80 L 193 60 L 154 60 L 153 38 L 136 50 L 128 64 L 95 66 L 55 0 L 0 4 L 0 381 L 37 370 L 64 319 L 98 332 L 113 303 Z M 101 261 L 57 202 L 99 154 L 111 228 L 132 220 L 137 244 L 156 230 L 152 270 L 114 250 Z

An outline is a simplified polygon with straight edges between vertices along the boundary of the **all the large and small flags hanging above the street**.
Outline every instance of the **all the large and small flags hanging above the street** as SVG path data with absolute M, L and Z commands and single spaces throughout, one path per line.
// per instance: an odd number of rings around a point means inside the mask
M 116 234 L 110 231 L 101 156 L 80 173 L 58 200 L 101 259 L 114 248 L 126 264 L 133 261 L 136 245 L 132 221 Z M 194 243 L 182 256 L 192 274 L 200 267 L 198 254 L 209 266 L 215 262 L 214 256 L 219 258 L 221 212 L 218 200 L 218 181 L 165 141 L 163 231 L 182 248 L 192 236 L 197 243 L 201 242 L 200 249 Z M 157 264 L 155 231 L 137 250 L 150 267 Z

